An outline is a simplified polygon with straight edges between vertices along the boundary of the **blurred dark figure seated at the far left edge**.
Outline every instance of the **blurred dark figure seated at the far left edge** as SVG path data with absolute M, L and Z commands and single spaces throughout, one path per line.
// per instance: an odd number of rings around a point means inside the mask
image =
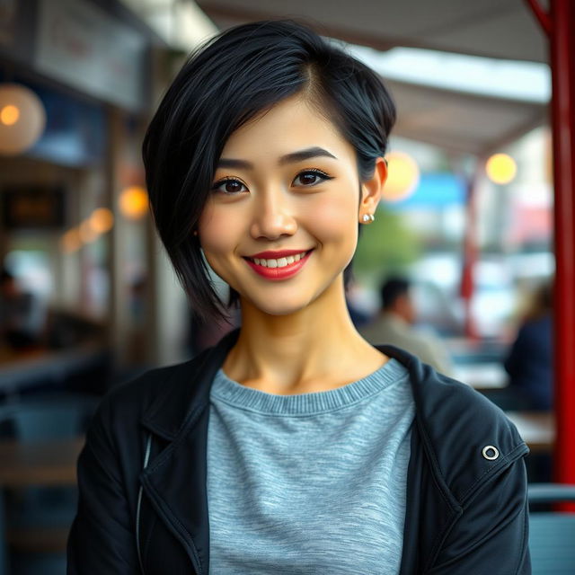
M 22 290 L 13 274 L 0 270 L 0 346 L 19 350 L 40 343 L 43 329 L 35 297 Z

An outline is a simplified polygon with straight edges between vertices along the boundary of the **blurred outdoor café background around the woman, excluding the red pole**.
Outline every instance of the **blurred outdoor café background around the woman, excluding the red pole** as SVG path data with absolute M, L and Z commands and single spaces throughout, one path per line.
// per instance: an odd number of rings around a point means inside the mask
M 0 0 L 0 575 L 65 572 L 75 457 L 102 394 L 237 324 L 191 316 L 140 146 L 190 50 L 241 22 L 302 18 L 385 79 L 398 121 L 354 322 L 374 343 L 391 329 L 435 349 L 509 412 L 530 481 L 551 480 L 552 72 L 533 4 Z

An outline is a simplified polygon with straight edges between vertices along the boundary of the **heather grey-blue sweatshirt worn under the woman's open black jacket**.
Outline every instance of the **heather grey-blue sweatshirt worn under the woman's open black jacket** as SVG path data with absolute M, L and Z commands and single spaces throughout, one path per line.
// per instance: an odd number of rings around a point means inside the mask
M 399 572 L 414 403 L 395 359 L 316 394 L 220 369 L 208 424 L 209 572 Z

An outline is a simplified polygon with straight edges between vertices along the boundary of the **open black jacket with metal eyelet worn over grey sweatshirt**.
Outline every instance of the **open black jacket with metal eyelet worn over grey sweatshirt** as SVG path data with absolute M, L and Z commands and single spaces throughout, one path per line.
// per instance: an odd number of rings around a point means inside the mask
M 78 460 L 68 574 L 139 573 L 137 541 L 146 575 L 208 574 L 209 390 L 236 338 L 102 400 Z M 409 369 L 416 404 L 401 575 L 530 573 L 528 449 L 517 430 L 473 389 L 378 349 Z

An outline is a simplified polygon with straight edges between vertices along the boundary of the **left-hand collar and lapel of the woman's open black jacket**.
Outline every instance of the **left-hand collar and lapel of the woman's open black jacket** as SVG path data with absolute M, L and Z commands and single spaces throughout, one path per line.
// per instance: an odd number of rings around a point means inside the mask
M 207 480 L 208 403 L 217 369 L 239 331 L 189 362 L 168 368 L 163 394 L 142 416 L 142 424 L 170 443 L 140 473 L 155 512 L 185 549 L 196 573 L 209 572 Z

